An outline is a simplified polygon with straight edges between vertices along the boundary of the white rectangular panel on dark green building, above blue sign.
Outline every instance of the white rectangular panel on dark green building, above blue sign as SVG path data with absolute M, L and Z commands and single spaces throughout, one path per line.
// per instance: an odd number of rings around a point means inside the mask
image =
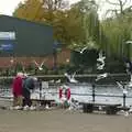
M 15 40 L 15 32 L 0 32 L 0 40 Z

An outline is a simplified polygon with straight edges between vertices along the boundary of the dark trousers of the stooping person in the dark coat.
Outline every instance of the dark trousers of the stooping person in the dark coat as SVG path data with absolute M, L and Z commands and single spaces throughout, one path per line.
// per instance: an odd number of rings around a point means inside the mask
M 24 106 L 32 106 L 32 101 L 31 101 L 31 92 L 28 89 L 23 89 L 23 107 Z

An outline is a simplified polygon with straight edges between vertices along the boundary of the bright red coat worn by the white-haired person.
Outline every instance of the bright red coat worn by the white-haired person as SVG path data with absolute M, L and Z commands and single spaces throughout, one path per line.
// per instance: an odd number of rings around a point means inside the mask
M 13 96 L 22 96 L 22 77 L 16 76 L 12 84 Z

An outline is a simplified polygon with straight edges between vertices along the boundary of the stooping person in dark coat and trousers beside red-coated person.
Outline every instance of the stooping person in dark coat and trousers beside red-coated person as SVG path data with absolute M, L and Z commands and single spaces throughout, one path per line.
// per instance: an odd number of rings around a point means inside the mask
M 31 90 L 35 88 L 35 80 L 36 78 L 33 77 L 25 77 L 23 79 L 23 107 L 31 107 Z

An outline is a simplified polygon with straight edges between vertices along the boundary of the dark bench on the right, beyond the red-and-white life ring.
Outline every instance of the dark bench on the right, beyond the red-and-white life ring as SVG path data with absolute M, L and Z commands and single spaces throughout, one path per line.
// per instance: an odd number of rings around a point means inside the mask
M 117 114 L 120 103 L 100 103 L 100 102 L 80 102 L 85 113 L 91 113 L 94 110 L 106 111 L 107 114 Z

